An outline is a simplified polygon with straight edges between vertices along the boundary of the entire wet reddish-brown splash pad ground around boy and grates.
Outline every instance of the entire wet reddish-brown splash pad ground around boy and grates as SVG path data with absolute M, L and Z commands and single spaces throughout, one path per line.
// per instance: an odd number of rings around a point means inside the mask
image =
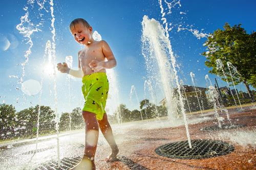
M 188 115 L 189 132 L 193 139 L 211 139 L 227 142 L 234 151 L 222 156 L 204 159 L 174 159 L 159 156 L 155 150 L 163 144 L 185 141 L 186 132 L 182 119 L 170 125 L 167 120 L 144 120 L 142 122 L 113 125 L 115 138 L 119 146 L 119 161 L 106 163 L 110 154 L 108 144 L 100 135 L 96 152 L 97 169 L 255 169 L 256 167 L 256 109 L 244 107 L 237 111 L 229 109 L 231 122 L 244 125 L 237 129 L 202 131 L 202 127 L 217 125 L 212 112 Z M 222 122 L 228 124 L 225 114 Z M 179 122 L 180 121 L 180 122 Z M 172 127 L 171 127 L 172 126 Z M 77 158 L 83 152 L 84 131 L 72 131 L 60 136 L 60 159 Z M 33 153 L 34 156 L 33 156 Z M 9 144 L 1 151 L 0 169 L 38 169 L 40 165 L 53 166 L 56 162 L 56 139 L 54 136 L 35 142 L 26 141 Z M 42 168 L 39 168 L 42 169 Z M 65 168 L 64 168 L 65 169 Z M 68 168 L 67 168 L 68 169 Z

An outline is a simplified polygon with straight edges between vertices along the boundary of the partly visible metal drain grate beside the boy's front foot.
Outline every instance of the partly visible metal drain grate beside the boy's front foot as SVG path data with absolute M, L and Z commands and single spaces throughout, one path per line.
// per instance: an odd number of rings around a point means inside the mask
M 57 161 L 51 161 L 38 166 L 35 170 L 68 170 L 79 163 L 81 159 L 81 157 L 63 158 L 60 160 L 59 168 Z

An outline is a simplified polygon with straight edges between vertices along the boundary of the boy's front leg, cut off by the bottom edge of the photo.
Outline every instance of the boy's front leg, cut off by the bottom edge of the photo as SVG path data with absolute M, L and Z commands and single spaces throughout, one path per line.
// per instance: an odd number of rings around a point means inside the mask
M 86 124 L 86 145 L 84 148 L 84 155 L 81 162 L 73 169 L 82 170 L 89 169 L 95 170 L 94 156 L 97 148 L 99 127 L 94 113 L 82 111 L 84 123 Z

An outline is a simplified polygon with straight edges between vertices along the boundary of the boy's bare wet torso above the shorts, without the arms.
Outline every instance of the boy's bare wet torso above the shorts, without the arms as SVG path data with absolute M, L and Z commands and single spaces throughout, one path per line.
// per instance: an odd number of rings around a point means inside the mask
M 89 63 L 92 60 L 105 61 L 105 56 L 102 53 L 102 47 L 100 41 L 94 41 L 93 44 L 90 44 L 87 48 L 84 48 L 79 52 L 79 61 L 80 67 L 84 75 L 90 75 L 94 73 L 94 70 L 91 69 Z M 106 72 L 105 69 L 101 69 L 98 72 Z

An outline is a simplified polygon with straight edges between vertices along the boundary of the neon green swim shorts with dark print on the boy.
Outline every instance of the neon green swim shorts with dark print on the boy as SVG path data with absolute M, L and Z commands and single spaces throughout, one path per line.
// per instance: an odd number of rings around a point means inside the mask
M 84 96 L 83 111 L 96 114 L 101 120 L 105 113 L 106 99 L 109 92 L 109 80 L 105 72 L 95 72 L 82 78 L 82 93 Z

